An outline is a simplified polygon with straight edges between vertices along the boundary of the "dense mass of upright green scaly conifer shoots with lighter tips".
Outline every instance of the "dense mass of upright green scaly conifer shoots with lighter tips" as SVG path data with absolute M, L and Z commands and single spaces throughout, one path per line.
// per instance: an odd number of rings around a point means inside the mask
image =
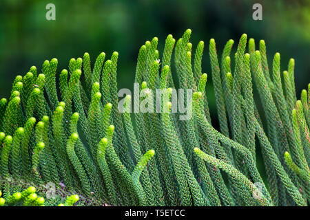
M 118 111 L 117 52 L 107 61 L 105 53 L 99 54 L 94 67 L 85 53 L 70 60 L 69 70 L 57 72 L 53 58 L 43 63 L 41 74 L 31 67 L 17 76 L 10 98 L 0 101 L 4 199 L 25 194 L 21 190 L 27 183 L 54 183 L 57 192 L 85 197 L 85 205 L 307 206 L 310 85 L 297 100 L 294 60 L 280 72 L 276 53 L 269 72 L 265 41 L 256 50 L 254 39 L 247 41 L 242 34 L 234 59 L 233 40 L 219 59 L 211 39 L 218 131 L 211 124 L 205 92 L 204 43 L 198 43 L 192 56 L 190 36 L 191 30 L 178 41 L 167 36 L 161 60 L 156 37 L 139 51 L 134 83 L 145 91 L 140 102 L 152 96 L 149 91 L 165 89 L 161 107 L 168 111 L 161 113 Z M 192 104 L 189 120 L 170 111 L 175 85 L 194 90 L 192 103 L 185 103 Z M 255 101 L 253 85 L 259 95 Z M 131 105 L 128 95 L 125 107 Z M 258 149 L 266 182 L 257 168 Z M 68 198 L 65 203 L 76 202 L 76 195 Z M 36 199 L 30 193 L 24 203 L 43 204 Z M 59 203 L 45 202 L 53 204 Z

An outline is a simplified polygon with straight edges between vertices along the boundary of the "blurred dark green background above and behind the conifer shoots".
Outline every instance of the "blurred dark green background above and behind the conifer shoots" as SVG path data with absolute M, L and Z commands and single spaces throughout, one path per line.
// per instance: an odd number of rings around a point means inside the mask
M 45 5 L 54 3 L 56 21 L 45 19 Z M 252 5 L 262 4 L 262 21 L 252 19 Z M 138 0 L 63 1 L 1 0 L 0 5 L 0 98 L 8 97 L 14 77 L 24 75 L 32 65 L 41 72 L 46 59 L 58 58 L 61 69 L 70 58 L 89 52 L 92 64 L 105 52 L 119 53 L 118 88 L 132 89 L 138 50 L 157 36 L 163 52 L 165 38 L 175 39 L 192 29 L 193 47 L 205 41 L 203 72 L 210 74 L 208 42 L 216 39 L 218 51 L 229 39 L 241 34 L 265 39 L 269 65 L 276 52 L 281 54 L 281 70 L 289 58 L 296 60 L 296 89 L 310 83 L 310 1 L 308 0 Z M 212 122 L 218 126 L 211 77 L 207 94 Z M 260 168 L 262 169 L 260 163 Z

